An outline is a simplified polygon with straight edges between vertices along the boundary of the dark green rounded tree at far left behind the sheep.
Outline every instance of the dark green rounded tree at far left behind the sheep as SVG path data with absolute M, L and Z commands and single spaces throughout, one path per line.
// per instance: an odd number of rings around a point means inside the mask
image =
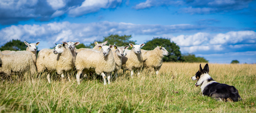
M 5 43 L 3 46 L 1 46 L 0 50 L 4 51 L 4 50 L 11 50 L 11 51 L 23 51 L 27 49 L 27 45 L 22 42 L 19 39 L 12 39 L 11 41 Z

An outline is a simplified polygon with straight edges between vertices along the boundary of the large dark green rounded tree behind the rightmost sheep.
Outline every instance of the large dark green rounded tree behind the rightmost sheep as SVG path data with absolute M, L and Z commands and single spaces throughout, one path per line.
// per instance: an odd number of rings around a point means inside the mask
M 176 45 L 176 43 L 171 42 L 168 38 L 153 38 L 152 40 L 147 41 L 142 49 L 153 50 L 161 45 L 169 52 L 169 55 L 164 56 L 164 62 L 177 62 L 181 60 L 180 47 Z

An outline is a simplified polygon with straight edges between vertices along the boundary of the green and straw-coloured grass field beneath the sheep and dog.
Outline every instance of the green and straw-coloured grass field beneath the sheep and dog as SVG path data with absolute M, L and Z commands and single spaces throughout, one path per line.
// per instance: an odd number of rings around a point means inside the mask
M 202 63 L 204 66 L 205 63 Z M 64 82 L 40 74 L 31 83 L 28 75 L 0 83 L 0 112 L 256 112 L 256 64 L 209 64 L 209 75 L 238 89 L 242 101 L 220 102 L 202 96 L 191 77 L 199 63 L 163 63 L 159 75 L 119 75 L 103 85 L 101 77 L 84 79 L 78 86 L 75 74 Z

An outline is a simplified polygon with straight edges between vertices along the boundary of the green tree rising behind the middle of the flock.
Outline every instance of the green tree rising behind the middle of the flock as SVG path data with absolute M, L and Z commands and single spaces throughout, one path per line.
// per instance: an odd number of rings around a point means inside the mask
M 132 35 L 119 36 L 118 34 L 109 34 L 109 36 L 103 37 L 103 40 L 98 40 L 97 42 L 103 43 L 107 41 L 107 45 L 115 44 L 117 46 L 126 46 L 126 45 L 129 45 L 129 43 L 135 44 L 136 40 L 130 40 L 131 38 L 132 38 Z M 94 46 L 95 46 L 94 42 L 91 43 L 90 45 L 86 45 L 87 48 L 93 48 Z

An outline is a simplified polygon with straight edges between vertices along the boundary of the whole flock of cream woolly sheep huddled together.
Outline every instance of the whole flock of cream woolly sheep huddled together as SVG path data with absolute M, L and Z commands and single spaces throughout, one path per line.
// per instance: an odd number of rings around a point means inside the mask
M 106 85 L 106 78 L 110 84 L 112 72 L 117 77 L 117 71 L 120 69 L 129 70 L 131 77 L 134 73 L 139 75 L 143 67 L 158 74 L 164 55 L 169 54 L 162 46 L 147 51 L 141 49 L 145 44 L 129 44 L 132 49 L 128 50 L 129 46 L 106 45 L 106 41 L 94 42 L 93 49 L 76 49 L 75 45 L 80 42 L 63 42 L 56 44 L 54 49 L 40 50 L 36 57 L 36 46 L 40 42 L 29 44 L 24 41 L 24 43 L 28 46 L 26 51 L 0 51 L 0 76 L 10 76 L 13 73 L 22 75 L 28 70 L 31 75 L 46 71 L 47 80 L 51 83 L 50 71 L 56 71 L 61 75 L 62 80 L 66 72 L 70 81 L 68 73 L 76 69 L 78 84 L 81 74 L 83 78 L 94 72 L 103 77 Z

